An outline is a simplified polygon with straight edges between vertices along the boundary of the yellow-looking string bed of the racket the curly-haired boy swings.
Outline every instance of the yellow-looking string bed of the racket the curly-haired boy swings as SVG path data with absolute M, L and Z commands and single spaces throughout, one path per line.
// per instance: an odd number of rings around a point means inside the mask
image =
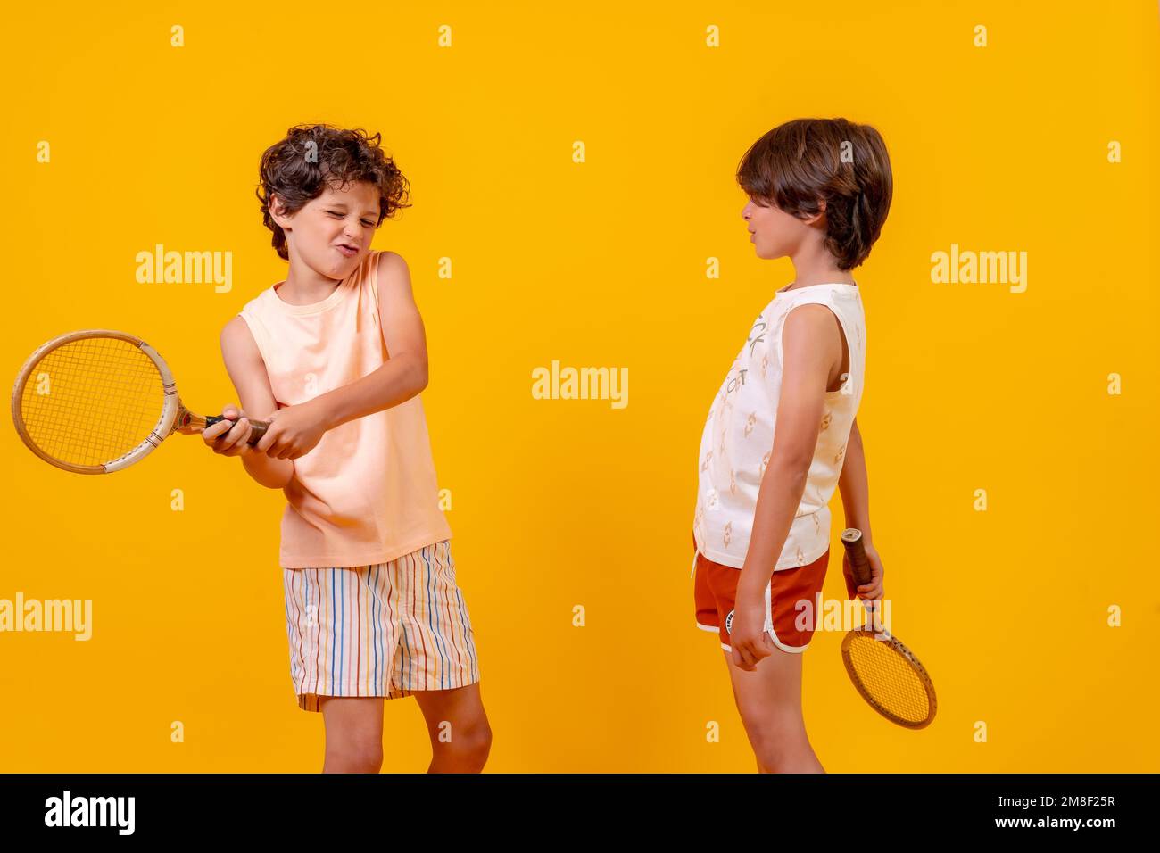
M 139 347 L 117 338 L 81 338 L 41 357 L 20 405 L 28 436 L 44 453 L 100 465 L 138 447 L 164 404 L 161 374 Z

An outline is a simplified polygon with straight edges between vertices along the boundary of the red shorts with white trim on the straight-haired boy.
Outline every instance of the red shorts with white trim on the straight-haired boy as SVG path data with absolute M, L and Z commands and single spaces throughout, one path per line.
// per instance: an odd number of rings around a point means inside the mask
M 694 540 L 694 600 L 697 627 L 715 631 L 722 648 L 732 651 L 728 629 L 733 621 L 733 602 L 740 569 L 722 565 L 697 552 Z M 770 572 L 766 585 L 766 630 L 782 651 L 800 653 L 810 645 L 813 629 L 820 621 L 821 583 L 826 579 L 829 549 L 809 565 Z

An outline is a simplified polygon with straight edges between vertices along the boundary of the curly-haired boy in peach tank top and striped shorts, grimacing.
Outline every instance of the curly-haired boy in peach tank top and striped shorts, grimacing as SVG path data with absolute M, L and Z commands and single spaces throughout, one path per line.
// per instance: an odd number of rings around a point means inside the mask
M 429 771 L 477 772 L 491 729 L 419 397 L 423 323 L 406 262 L 370 247 L 409 207 L 379 143 L 299 125 L 263 153 L 258 197 L 289 269 L 223 330 L 240 407 L 203 438 L 287 497 L 290 674 L 322 714 L 322 771 L 377 773 L 384 699 L 414 694 Z M 273 421 L 254 444 L 251 418 Z

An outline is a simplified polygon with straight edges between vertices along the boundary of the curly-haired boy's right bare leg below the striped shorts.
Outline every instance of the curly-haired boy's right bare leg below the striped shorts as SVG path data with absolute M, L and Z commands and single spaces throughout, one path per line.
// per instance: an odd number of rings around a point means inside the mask
M 492 747 L 479 682 L 449 691 L 415 691 L 432 739 L 428 773 L 479 773 Z

